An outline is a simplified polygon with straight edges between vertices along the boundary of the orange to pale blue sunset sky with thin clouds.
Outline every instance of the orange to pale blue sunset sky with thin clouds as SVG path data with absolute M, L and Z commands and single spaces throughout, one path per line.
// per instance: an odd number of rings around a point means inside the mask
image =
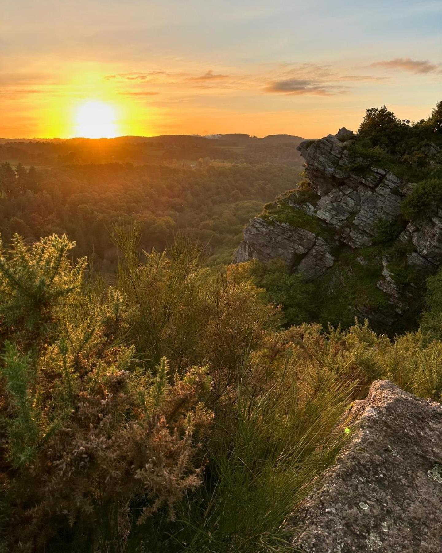
M 417 121 L 442 100 L 441 0 L 1 6 L 2 138 L 69 138 L 98 116 L 118 135 L 318 138 L 369 107 Z

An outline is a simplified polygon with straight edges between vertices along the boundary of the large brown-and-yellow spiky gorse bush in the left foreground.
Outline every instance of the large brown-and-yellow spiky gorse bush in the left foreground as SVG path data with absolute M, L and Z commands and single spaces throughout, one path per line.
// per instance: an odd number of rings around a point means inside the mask
M 199 483 L 197 440 L 212 418 L 206 368 L 170 373 L 162 358 L 141 370 L 117 340 L 124 296 L 109 289 L 91 304 L 72 246 L 16 237 L 0 264 L 3 508 L 10 544 L 25 551 L 44 550 L 64 524 L 91 550 L 117 550 L 107 544 L 124 542 L 133 521 L 163 505 L 172 514 Z

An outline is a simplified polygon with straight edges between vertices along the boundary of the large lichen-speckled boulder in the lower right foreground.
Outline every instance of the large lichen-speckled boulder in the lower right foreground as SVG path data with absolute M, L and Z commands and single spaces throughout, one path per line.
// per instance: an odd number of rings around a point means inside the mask
M 442 405 L 378 380 L 345 426 L 336 465 L 289 521 L 296 550 L 439 553 Z

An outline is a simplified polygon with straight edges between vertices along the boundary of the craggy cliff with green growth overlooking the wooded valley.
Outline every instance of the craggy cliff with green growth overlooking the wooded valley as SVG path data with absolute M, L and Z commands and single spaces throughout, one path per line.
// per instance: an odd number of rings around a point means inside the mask
M 347 129 L 298 149 L 306 178 L 250 221 L 235 262 L 282 258 L 324 301 L 340 294 L 344 319 L 352 312 L 388 328 L 417 305 L 425 276 L 442 262 L 442 210 L 407 222 L 401 204 L 415 184 L 361 153 Z

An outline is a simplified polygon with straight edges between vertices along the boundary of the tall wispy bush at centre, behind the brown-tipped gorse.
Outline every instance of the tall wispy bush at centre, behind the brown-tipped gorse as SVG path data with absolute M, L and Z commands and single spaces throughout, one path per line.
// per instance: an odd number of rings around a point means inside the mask
M 210 367 L 218 397 L 236 384 L 241 366 L 278 327 L 278 310 L 256 287 L 230 270 L 211 273 L 201 250 L 178 237 L 166 252 L 141 252 L 138 229 L 116 229 L 123 252 L 119 289 L 128 298 L 128 338 L 146 366 L 166 356 L 180 372 L 193 364 Z

